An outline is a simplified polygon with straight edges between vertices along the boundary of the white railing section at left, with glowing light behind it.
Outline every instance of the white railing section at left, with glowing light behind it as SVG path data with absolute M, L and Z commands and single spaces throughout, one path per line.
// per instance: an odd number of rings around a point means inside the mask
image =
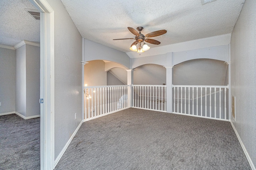
M 129 86 L 85 86 L 84 121 L 127 109 L 127 91 Z

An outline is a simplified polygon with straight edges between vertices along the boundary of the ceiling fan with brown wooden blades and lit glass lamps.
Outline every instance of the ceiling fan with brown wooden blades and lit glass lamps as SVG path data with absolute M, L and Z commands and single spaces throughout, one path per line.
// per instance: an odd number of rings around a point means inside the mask
M 148 49 L 150 49 L 150 47 L 148 45 L 146 45 L 145 42 L 156 44 L 156 45 L 160 44 L 160 42 L 157 41 L 157 40 L 149 39 L 150 37 L 161 36 L 162 34 L 165 34 L 167 32 L 166 30 L 158 30 L 158 31 L 150 32 L 150 33 L 148 33 L 144 36 L 143 34 L 141 34 L 141 31 L 143 30 L 143 27 L 137 27 L 137 30 L 139 32 L 137 32 L 134 28 L 131 28 L 131 27 L 128 27 L 128 30 L 132 34 L 135 35 L 135 38 L 121 38 L 121 39 L 114 39 L 114 40 L 128 40 L 128 39 L 135 40 L 135 42 L 132 43 L 132 45 L 130 47 L 130 50 L 137 51 L 138 53 L 142 53 L 142 52 L 147 51 Z M 143 46 L 141 44 L 142 42 L 144 43 Z M 136 45 L 138 45 L 138 49 L 137 49 Z

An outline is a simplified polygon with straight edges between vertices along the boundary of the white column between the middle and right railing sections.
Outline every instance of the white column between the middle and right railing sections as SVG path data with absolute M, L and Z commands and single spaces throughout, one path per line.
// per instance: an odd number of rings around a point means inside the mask
M 172 67 L 164 66 L 166 68 L 166 112 L 172 113 L 173 97 L 172 97 Z

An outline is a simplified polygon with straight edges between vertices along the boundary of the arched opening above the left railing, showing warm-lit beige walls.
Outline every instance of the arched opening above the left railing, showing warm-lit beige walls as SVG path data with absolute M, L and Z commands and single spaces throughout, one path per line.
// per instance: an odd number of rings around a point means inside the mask
M 87 61 L 84 65 L 85 86 L 127 84 L 127 69 L 123 65 L 106 60 Z

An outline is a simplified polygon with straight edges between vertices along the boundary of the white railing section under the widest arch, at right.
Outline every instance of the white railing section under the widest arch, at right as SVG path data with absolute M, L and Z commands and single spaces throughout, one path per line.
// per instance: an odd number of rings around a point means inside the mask
M 172 85 L 173 113 L 228 121 L 227 86 Z

